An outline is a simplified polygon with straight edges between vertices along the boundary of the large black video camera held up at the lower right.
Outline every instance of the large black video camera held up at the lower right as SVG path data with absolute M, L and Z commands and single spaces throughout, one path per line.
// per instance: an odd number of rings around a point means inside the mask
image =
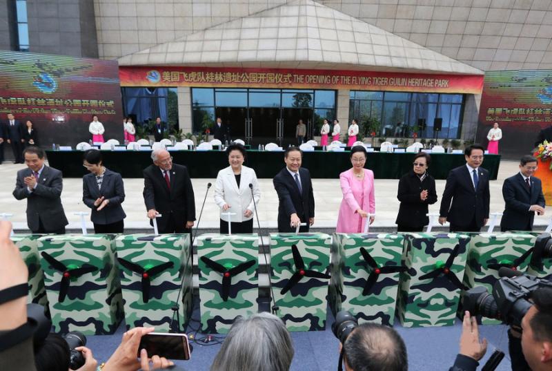
M 523 274 L 509 268 L 500 268 L 500 280 L 493 286 L 493 293 L 485 287 L 473 287 L 464 294 L 464 310 L 475 316 L 503 321 L 506 325 L 521 326 L 522 319 L 533 306 L 531 294 L 540 287 L 552 288 L 549 280 Z

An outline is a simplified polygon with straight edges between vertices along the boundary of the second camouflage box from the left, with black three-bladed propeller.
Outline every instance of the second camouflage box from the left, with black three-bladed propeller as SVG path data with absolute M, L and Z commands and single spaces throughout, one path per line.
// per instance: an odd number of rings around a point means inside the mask
M 55 332 L 115 332 L 123 306 L 112 236 L 43 236 L 38 249 Z

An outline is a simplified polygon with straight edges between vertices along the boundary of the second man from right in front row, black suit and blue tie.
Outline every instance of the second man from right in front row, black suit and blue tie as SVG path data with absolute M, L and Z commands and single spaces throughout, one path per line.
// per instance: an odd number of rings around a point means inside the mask
M 479 144 L 468 146 L 466 164 L 452 169 L 446 178 L 439 222 L 448 220 L 451 232 L 478 232 L 489 220 L 489 171 L 480 167 L 483 154 Z

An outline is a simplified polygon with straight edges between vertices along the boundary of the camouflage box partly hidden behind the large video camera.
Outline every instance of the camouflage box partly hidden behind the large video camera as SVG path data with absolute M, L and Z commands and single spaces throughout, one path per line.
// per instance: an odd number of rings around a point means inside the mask
M 470 234 L 468 260 L 464 274 L 464 285 L 469 288 L 484 286 L 489 292 L 500 278 L 498 269 L 502 266 L 526 269 L 531 247 L 535 244 L 535 236 L 522 233 L 480 233 Z M 463 296 L 463 292 L 462 292 Z M 464 316 L 462 305 L 458 308 L 460 318 Z M 491 318 L 482 318 L 485 325 L 501 323 Z

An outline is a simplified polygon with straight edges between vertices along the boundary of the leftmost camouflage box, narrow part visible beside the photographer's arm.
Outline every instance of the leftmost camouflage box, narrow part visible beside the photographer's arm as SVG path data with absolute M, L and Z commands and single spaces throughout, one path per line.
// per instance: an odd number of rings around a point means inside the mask
M 27 303 L 43 305 L 48 310 L 48 297 L 44 287 L 44 272 L 40 266 L 37 239 L 39 234 L 14 234 L 11 240 L 19 248 L 21 258 L 29 270 L 29 296 Z

